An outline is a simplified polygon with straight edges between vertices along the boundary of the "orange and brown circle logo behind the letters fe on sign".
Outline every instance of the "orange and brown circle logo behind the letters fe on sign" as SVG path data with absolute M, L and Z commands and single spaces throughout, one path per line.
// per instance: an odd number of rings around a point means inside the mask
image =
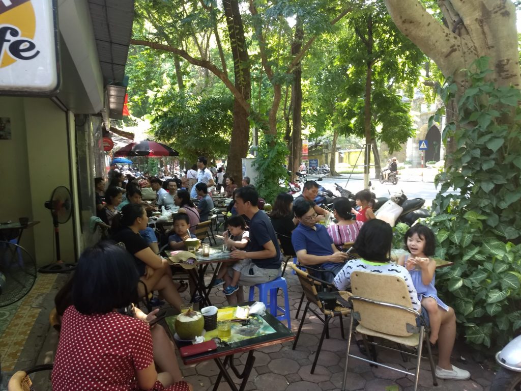
M 0 0 L 0 68 L 19 59 L 32 59 L 40 53 L 32 41 L 36 17 L 31 2 L 10 0 L 8 4 L 11 6 L 6 7 L 5 2 Z

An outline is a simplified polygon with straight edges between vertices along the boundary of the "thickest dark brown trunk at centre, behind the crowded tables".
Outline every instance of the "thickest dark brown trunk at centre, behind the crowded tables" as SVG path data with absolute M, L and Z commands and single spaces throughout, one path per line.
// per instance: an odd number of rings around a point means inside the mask
M 249 55 L 246 51 L 244 28 L 238 0 L 223 0 L 226 23 L 230 36 L 233 54 L 233 70 L 235 74 L 235 88 L 241 93 L 245 101 L 250 100 L 251 76 Z M 227 173 L 235 179 L 235 183 L 242 180 L 242 158 L 246 157 L 250 138 L 249 114 L 237 99 L 233 103 L 233 129 L 228 152 Z

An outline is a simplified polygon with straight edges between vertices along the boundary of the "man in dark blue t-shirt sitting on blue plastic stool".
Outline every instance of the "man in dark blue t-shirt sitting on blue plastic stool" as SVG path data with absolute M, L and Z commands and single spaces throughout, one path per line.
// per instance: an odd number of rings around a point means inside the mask
M 228 303 L 234 305 L 244 301 L 242 286 L 264 284 L 281 274 L 280 248 L 275 230 L 268 216 L 258 209 L 258 193 L 253 186 L 244 186 L 235 191 L 235 207 L 240 215 L 250 219 L 250 242 L 244 250 L 234 250 L 231 257 L 242 260 L 229 268 L 227 284 L 231 282 L 233 270 L 239 270 L 239 284 L 231 294 Z

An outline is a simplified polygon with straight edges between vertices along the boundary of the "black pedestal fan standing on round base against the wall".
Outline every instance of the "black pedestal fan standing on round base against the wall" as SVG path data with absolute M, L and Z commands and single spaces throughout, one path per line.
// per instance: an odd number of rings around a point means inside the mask
M 75 264 L 64 263 L 60 255 L 59 225 L 67 223 L 72 214 L 72 201 L 69 189 L 58 186 L 53 190 L 51 199 L 45 202 L 45 207 L 51 210 L 54 225 L 54 240 L 56 242 L 56 263 L 49 263 L 38 269 L 40 273 L 68 273 L 76 268 Z

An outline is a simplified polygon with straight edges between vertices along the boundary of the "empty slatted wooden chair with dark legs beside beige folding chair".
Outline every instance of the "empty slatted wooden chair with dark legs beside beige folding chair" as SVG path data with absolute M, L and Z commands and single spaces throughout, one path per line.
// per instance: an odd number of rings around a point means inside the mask
M 349 315 L 351 313 L 351 310 L 347 307 L 346 300 L 351 295 L 349 292 L 346 291 L 339 291 L 337 288 L 327 283 L 323 280 L 320 280 L 319 278 L 316 278 L 312 276 L 309 273 L 306 273 L 300 268 L 296 267 L 294 264 L 290 264 L 293 270 L 295 271 L 296 275 L 299 277 L 300 284 L 302 286 L 302 289 L 304 291 L 304 295 L 307 298 L 306 307 L 304 308 L 304 314 L 302 315 L 302 320 L 300 321 L 299 325 L 299 331 L 296 333 L 295 341 L 293 343 L 293 350 L 295 350 L 296 344 L 299 341 L 300 332 L 302 330 L 302 325 L 304 324 L 304 320 L 306 319 L 307 311 L 313 312 L 317 318 L 324 323 L 324 328 L 322 328 L 322 334 L 320 336 L 320 341 L 318 343 L 317 351 L 315 353 L 315 360 L 313 361 L 313 366 L 311 367 L 311 373 L 315 372 L 315 366 L 317 365 L 318 356 L 320 355 L 320 349 L 322 348 L 322 343 L 324 343 L 324 337 L 329 338 L 329 321 L 333 319 L 334 317 L 340 318 L 340 330 L 342 333 L 342 338 L 344 338 L 344 327 L 342 323 L 342 316 Z M 324 297 L 321 293 L 317 291 L 317 283 L 319 286 L 328 286 L 331 288 L 332 293 L 337 298 L 337 306 L 334 308 L 334 310 L 326 310 L 322 304 L 322 301 L 324 300 Z M 343 305 L 341 306 L 340 303 Z M 310 305 L 313 304 L 317 308 L 314 309 L 310 307 Z M 322 319 L 322 316 L 324 319 Z

